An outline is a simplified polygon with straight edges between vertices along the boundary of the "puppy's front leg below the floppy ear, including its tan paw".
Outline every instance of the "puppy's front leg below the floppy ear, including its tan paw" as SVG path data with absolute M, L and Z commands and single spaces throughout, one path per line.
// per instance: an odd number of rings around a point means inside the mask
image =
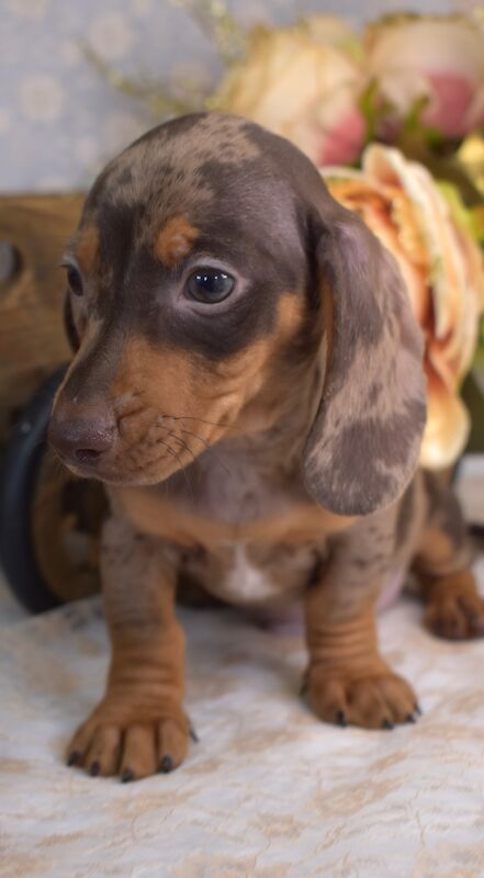
M 313 710 L 327 722 L 391 729 L 415 720 L 416 697 L 376 642 L 374 605 L 391 575 L 392 555 L 391 521 L 362 519 L 334 539 L 327 564 L 306 593 L 306 686 Z

